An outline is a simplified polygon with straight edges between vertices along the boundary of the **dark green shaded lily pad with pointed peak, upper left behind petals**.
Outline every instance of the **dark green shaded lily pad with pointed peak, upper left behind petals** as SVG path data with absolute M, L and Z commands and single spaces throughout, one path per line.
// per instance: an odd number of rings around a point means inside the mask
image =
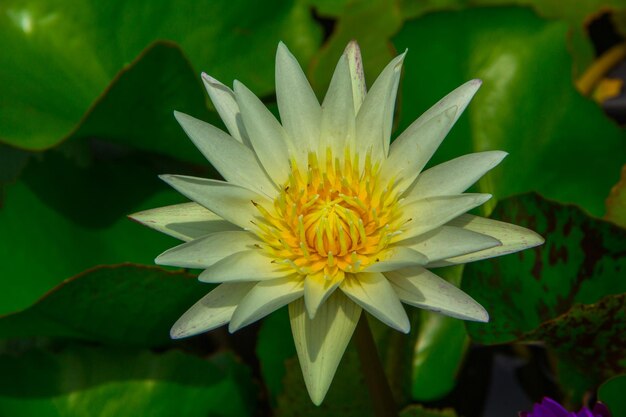
M 116 75 L 69 139 L 96 137 L 208 165 L 174 119 L 178 110 L 221 125 L 217 113 L 207 111 L 205 96 L 180 47 L 156 42 Z

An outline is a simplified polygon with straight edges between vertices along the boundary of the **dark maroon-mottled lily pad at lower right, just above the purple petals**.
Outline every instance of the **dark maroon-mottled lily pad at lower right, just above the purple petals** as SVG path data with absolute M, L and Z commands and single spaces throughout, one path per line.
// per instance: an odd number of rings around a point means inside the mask
M 626 294 L 576 304 L 521 340 L 544 341 L 559 359 L 558 376 L 566 396 L 582 399 L 601 382 L 626 371 Z

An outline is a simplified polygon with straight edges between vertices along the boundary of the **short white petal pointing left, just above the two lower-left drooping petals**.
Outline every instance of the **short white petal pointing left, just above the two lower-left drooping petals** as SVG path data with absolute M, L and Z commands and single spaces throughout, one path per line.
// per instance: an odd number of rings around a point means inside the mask
M 276 264 L 263 249 L 255 248 L 227 256 L 202 271 L 198 279 L 210 283 L 262 281 L 291 274 L 292 268 Z

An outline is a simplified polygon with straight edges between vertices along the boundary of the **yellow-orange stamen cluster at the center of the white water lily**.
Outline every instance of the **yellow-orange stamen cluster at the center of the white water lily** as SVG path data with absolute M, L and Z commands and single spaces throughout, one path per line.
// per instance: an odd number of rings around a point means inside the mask
M 370 154 L 360 165 L 348 151 L 334 158 L 328 149 L 324 161 L 309 153 L 306 171 L 292 161 L 273 210 L 257 205 L 260 237 L 276 262 L 326 279 L 376 262 L 400 216 L 398 193 L 393 183 L 380 183 L 378 172 Z

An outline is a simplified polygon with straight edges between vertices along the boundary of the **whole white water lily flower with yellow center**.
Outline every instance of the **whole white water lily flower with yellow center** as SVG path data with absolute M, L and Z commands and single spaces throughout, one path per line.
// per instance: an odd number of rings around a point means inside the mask
M 229 134 L 182 113 L 185 132 L 225 181 L 164 175 L 192 203 L 137 213 L 179 238 L 161 265 L 200 268 L 220 283 L 172 327 L 173 338 L 229 323 L 236 331 L 289 305 L 311 399 L 320 404 L 362 309 L 409 331 L 406 303 L 465 320 L 485 309 L 429 268 L 539 245 L 534 232 L 469 214 L 489 194 L 464 193 L 506 155 L 479 152 L 422 172 L 479 80 L 435 104 L 391 145 L 404 54 L 366 94 L 356 43 L 320 106 L 284 44 L 276 54 L 279 123 L 243 84 L 203 74 Z

